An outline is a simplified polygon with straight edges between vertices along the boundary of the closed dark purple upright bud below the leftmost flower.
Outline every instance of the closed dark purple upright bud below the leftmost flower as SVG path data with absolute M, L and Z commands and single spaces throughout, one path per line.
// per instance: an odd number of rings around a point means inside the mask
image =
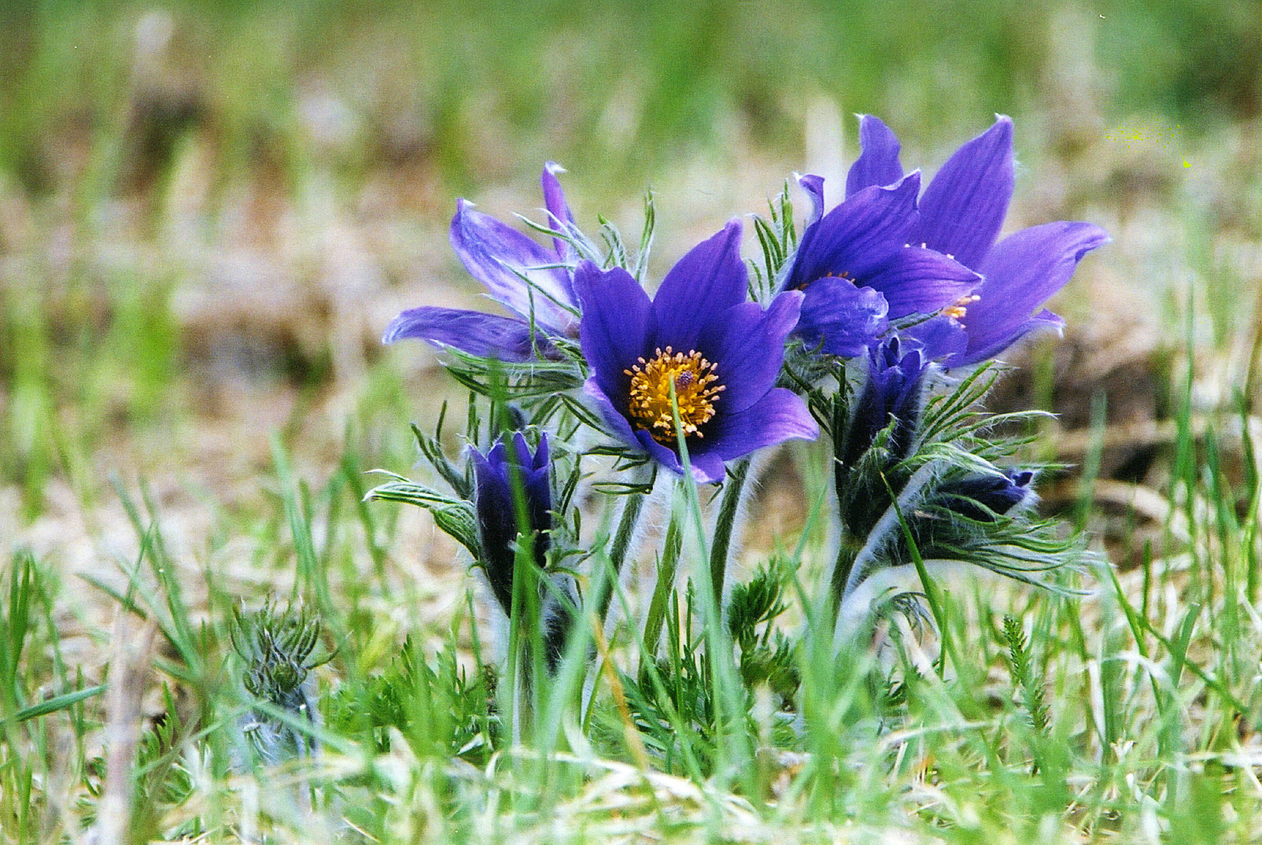
M 541 568 L 551 530 L 551 487 L 548 478 L 548 435 L 539 438 L 539 449 L 531 454 L 520 431 L 511 445 L 502 439 L 485 455 L 469 450 L 473 460 L 473 507 L 477 513 L 482 545 L 480 562 L 486 571 L 495 600 L 506 614 L 512 612 L 512 570 L 516 562 L 514 545 L 519 535 L 534 533 L 533 557 Z M 529 526 L 517 521 L 514 486 L 521 484 Z

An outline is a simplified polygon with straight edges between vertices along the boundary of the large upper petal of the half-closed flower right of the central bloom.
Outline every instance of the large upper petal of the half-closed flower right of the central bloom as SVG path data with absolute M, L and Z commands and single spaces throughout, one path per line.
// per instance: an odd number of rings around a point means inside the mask
M 866 284 L 866 274 L 901 248 L 916 224 L 920 174 L 892 188 L 864 188 L 808 226 L 785 288 L 843 274 Z

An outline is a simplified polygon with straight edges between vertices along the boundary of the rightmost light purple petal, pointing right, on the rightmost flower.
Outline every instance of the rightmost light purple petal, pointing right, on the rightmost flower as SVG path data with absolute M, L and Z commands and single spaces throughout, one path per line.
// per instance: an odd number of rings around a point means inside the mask
M 1084 255 L 1109 240 L 1092 223 L 1059 221 L 1031 226 L 1000 241 L 978 267 L 986 281 L 963 320 L 968 359 L 982 361 L 978 356 L 983 352 L 1002 351 L 1030 330 L 1025 328 L 1030 314 L 1069 281 Z

